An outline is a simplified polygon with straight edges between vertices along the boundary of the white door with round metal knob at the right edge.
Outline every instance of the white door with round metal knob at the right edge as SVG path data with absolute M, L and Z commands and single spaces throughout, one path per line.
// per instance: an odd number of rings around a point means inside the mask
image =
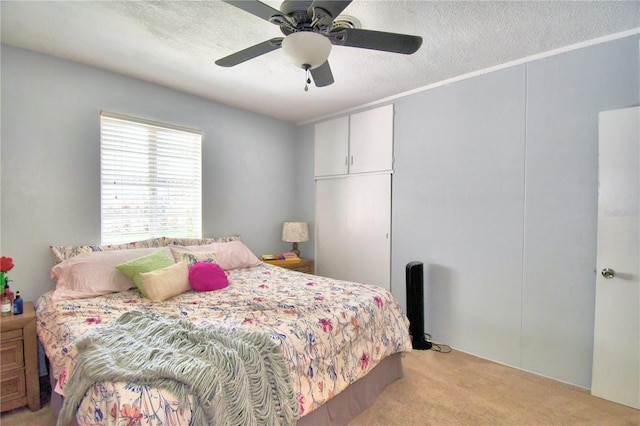
M 640 408 L 640 108 L 600 113 L 591 393 Z

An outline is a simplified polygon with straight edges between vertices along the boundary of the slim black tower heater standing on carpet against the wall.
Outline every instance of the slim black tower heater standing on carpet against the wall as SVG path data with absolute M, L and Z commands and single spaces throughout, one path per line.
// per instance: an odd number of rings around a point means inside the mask
M 407 317 L 413 349 L 431 349 L 424 334 L 424 267 L 422 262 L 407 263 Z

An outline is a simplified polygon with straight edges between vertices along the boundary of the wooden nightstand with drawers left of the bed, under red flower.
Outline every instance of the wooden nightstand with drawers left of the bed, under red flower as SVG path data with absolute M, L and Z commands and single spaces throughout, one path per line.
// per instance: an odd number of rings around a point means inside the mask
M 38 336 L 33 303 L 21 315 L 0 317 L 0 411 L 29 406 L 40 409 Z

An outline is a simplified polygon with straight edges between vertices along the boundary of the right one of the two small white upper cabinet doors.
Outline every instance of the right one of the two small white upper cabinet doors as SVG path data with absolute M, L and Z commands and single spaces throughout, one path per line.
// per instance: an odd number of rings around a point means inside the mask
M 393 169 L 393 105 L 351 115 L 349 173 Z

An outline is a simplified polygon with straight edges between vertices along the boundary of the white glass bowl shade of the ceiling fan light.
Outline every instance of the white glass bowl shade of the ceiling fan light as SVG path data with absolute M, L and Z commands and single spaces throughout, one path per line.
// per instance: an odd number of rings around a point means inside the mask
M 282 50 L 298 68 L 318 68 L 331 53 L 331 42 L 321 34 L 310 31 L 291 33 L 282 40 Z

